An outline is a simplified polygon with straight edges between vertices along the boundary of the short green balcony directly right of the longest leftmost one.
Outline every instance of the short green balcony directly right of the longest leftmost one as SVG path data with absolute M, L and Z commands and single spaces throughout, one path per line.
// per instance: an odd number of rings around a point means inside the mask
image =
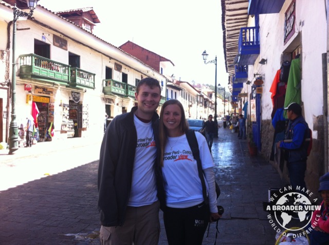
M 72 87 L 82 86 L 95 89 L 95 74 L 81 70 L 77 67 L 70 67 L 71 76 L 69 85 Z

